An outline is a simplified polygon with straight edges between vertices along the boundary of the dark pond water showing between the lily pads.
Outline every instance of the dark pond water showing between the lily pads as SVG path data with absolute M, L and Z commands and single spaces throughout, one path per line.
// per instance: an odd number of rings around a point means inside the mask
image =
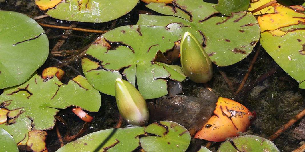
M 0 9 L 21 12 L 29 16 L 43 15 L 43 13 L 34 4 L 34 0 L 0 0 Z M 140 2 L 132 12 L 114 21 L 106 23 L 79 22 L 77 27 L 110 30 L 123 25 L 136 24 L 139 13 L 156 14 L 155 12 L 145 8 L 144 3 Z M 61 26 L 69 26 L 70 24 L 74 23 L 53 19 L 51 17 L 46 17 L 37 21 Z M 52 50 L 56 43 L 61 39 L 60 35 L 64 33 L 64 30 L 45 27 L 44 29 L 49 38 L 50 50 Z M 63 52 L 65 52 L 65 50 L 81 49 L 90 44 L 95 40 L 96 37 L 99 36 L 99 34 L 96 33 L 84 33 L 76 31 L 73 31 L 72 34 L 73 36 L 70 36 L 68 39 L 66 39 L 65 43 L 59 48 L 59 50 L 63 50 Z M 238 64 L 222 68 L 218 68 L 216 66 L 214 67 L 214 76 L 209 84 L 217 96 L 235 98 L 233 95 L 234 93 L 228 87 L 228 84 L 220 74 L 220 71 L 223 71 L 227 74 L 228 79 L 232 81 L 233 87 L 235 89 L 238 88 L 242 78 L 244 77 L 244 74 L 248 70 L 249 64 L 254 57 L 255 52 L 260 48 L 258 45 L 255 47 L 255 51 L 253 51 L 249 57 L 242 60 Z M 41 74 L 42 70 L 46 67 L 60 67 L 66 71 L 66 77 L 64 78 L 64 81 L 67 82 L 69 79 L 77 76 L 78 74 L 83 75 L 80 60 L 82 57 L 83 55 L 77 54 L 65 57 L 51 57 L 50 55 L 45 64 L 38 70 L 38 74 Z M 260 82 L 259 85 L 247 91 L 244 95 L 240 96 L 239 98 L 235 98 L 238 102 L 248 107 L 251 111 L 255 110 L 257 112 L 257 119 L 253 122 L 249 131 L 245 133 L 246 135 L 258 135 L 267 138 L 272 133 L 274 133 L 274 131 L 276 131 L 279 126 L 285 124 L 290 118 L 305 108 L 304 90 L 299 89 L 298 83 L 288 74 L 282 71 L 282 69 L 277 66 L 274 60 L 263 49 L 260 51 L 259 57 L 254 64 L 253 71 L 250 74 L 247 83 L 250 83 L 261 75 L 267 73 L 273 67 L 277 68 L 275 74 L 273 74 L 267 80 Z M 187 96 L 197 96 L 199 90 L 204 88 L 203 85 L 193 83 L 190 80 L 184 81 L 182 86 L 183 94 Z M 2 91 L 0 90 L 0 94 L 1 92 Z M 119 114 L 115 104 L 115 98 L 102 93 L 101 96 L 102 106 L 99 112 L 89 113 L 95 118 L 93 122 L 91 122 L 90 127 L 85 134 L 97 130 L 113 128 L 117 124 Z M 150 101 L 155 102 L 155 100 Z M 72 131 L 72 134 L 77 133 L 83 125 L 83 122 L 74 113 L 71 112 L 70 108 L 61 110 L 58 113 L 58 116 L 61 116 L 66 120 L 70 130 Z M 123 123 L 123 126 L 126 125 L 126 123 Z M 60 123 L 58 126 L 60 133 L 64 135 L 66 133 L 65 126 Z M 300 143 L 302 143 L 302 140 L 296 140 L 292 136 L 292 130 L 294 127 L 295 126 L 289 128 L 277 140 L 274 141 L 275 145 L 281 151 L 292 151 L 296 147 L 299 147 Z M 48 130 L 46 143 L 50 152 L 56 151 L 60 147 L 55 129 Z M 199 147 L 205 144 L 206 141 L 193 139 L 188 151 L 196 151 Z M 219 145 L 220 143 L 212 143 L 211 147 L 213 147 L 213 150 L 217 150 Z

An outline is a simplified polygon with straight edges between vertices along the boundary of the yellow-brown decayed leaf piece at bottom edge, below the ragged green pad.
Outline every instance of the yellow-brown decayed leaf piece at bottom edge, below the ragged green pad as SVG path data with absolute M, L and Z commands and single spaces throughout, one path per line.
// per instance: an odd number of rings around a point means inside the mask
M 28 133 L 29 139 L 27 146 L 34 152 L 47 152 L 48 149 L 45 144 L 47 132 L 43 130 L 32 130 Z

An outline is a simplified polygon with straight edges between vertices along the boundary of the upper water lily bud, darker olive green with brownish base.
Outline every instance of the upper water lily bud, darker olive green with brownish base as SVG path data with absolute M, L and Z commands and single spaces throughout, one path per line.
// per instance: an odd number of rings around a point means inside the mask
M 209 55 L 194 35 L 185 32 L 180 45 L 181 67 L 186 76 L 196 83 L 206 83 L 213 76 Z

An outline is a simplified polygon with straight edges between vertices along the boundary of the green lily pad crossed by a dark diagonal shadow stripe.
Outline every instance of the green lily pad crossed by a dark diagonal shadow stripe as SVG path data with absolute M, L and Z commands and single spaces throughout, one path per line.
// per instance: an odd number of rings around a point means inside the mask
M 139 136 L 144 135 L 144 127 L 114 128 L 97 131 L 83 136 L 59 148 L 56 152 L 133 151 L 139 144 Z

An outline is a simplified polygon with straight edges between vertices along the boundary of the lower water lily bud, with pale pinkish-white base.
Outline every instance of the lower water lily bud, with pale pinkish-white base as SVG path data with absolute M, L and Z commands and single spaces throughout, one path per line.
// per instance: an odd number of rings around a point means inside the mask
M 117 78 L 114 86 L 117 108 L 121 116 L 133 125 L 143 125 L 149 119 L 145 99 L 128 81 Z

